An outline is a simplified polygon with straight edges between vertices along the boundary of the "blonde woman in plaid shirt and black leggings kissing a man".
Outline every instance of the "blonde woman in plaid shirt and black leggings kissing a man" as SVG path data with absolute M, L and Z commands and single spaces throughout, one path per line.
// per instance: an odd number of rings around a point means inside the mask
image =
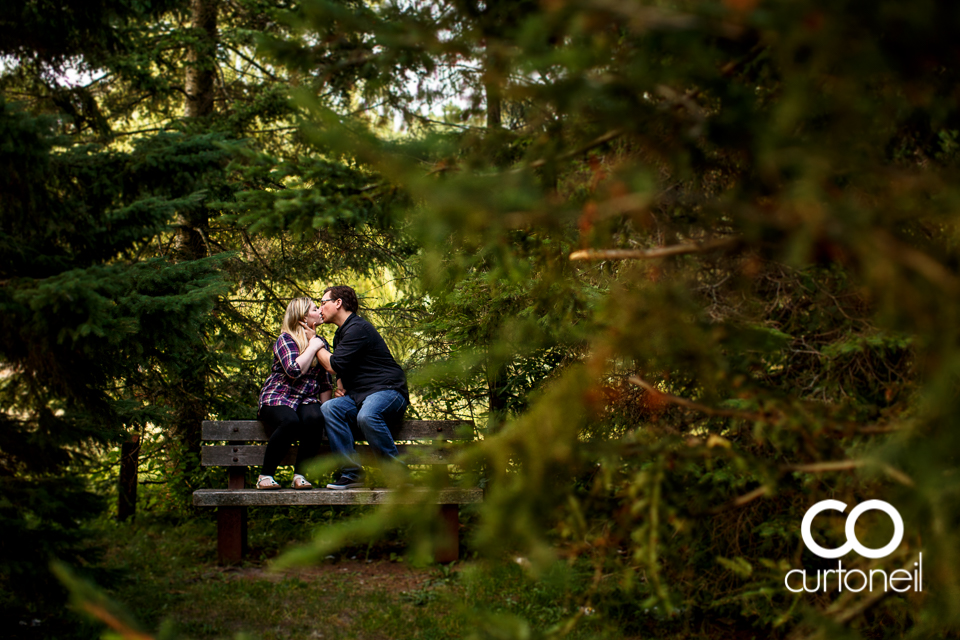
M 295 298 L 287 305 L 280 337 L 273 345 L 273 368 L 260 391 L 257 418 L 273 429 L 257 489 L 279 489 L 273 476 L 294 441 L 300 441 L 293 467 L 294 489 L 312 489 L 303 477 L 303 463 L 316 455 L 323 438 L 320 405 L 330 399 L 329 374 L 314 357 L 327 342 L 317 335 L 320 309 L 310 298 Z M 329 349 L 329 347 L 327 347 Z

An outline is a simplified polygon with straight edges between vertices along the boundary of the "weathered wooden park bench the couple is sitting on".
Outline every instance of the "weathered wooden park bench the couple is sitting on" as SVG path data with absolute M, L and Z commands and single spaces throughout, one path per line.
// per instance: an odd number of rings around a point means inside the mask
M 391 490 L 364 488 L 330 490 L 315 486 L 310 490 L 278 489 L 271 491 L 244 488 L 247 467 L 263 464 L 264 444 L 269 434 L 257 420 L 205 421 L 202 440 L 225 444 L 206 444 L 201 447 L 200 462 L 205 467 L 227 467 L 225 489 L 199 489 L 193 493 L 197 507 L 217 508 L 217 556 L 221 564 L 240 562 L 247 548 L 247 507 L 276 507 L 283 505 L 329 506 L 371 505 L 387 502 Z M 444 442 L 473 440 L 473 423 L 457 420 L 407 420 L 396 437 L 400 454 L 413 464 L 449 463 L 452 453 L 442 448 Z M 409 443 L 409 444 L 405 444 Z M 328 447 L 321 455 L 329 453 Z M 358 445 L 361 456 L 371 455 L 369 446 Z M 293 464 L 296 447 L 291 447 L 281 464 Z M 412 501 L 421 500 L 429 489 L 415 488 L 403 495 Z M 419 496 L 418 496 L 419 494 Z M 453 562 L 459 557 L 459 508 L 483 500 L 483 489 L 441 489 L 435 494 L 443 521 L 443 541 L 436 550 L 438 562 Z

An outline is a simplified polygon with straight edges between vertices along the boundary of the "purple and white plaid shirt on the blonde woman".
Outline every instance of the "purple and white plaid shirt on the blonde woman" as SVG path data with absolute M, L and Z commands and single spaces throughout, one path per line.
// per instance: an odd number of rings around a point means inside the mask
M 326 340 L 323 344 L 330 348 Z M 297 364 L 299 355 L 300 348 L 293 337 L 281 333 L 273 345 L 273 368 L 260 391 L 261 407 L 282 405 L 295 410 L 301 404 L 320 402 L 320 394 L 333 389 L 333 379 L 319 364 L 303 373 Z

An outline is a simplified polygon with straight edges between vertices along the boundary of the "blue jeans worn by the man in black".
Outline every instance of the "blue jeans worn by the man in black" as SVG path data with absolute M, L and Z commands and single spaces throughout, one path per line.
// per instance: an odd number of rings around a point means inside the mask
M 358 439 L 366 440 L 380 457 L 403 464 L 389 427 L 399 425 L 407 410 L 407 399 L 399 391 L 387 389 L 371 393 L 359 410 L 350 396 L 327 400 L 320 410 L 326 422 L 330 449 L 342 459 L 340 477 L 360 478 L 362 467 L 353 445 Z

